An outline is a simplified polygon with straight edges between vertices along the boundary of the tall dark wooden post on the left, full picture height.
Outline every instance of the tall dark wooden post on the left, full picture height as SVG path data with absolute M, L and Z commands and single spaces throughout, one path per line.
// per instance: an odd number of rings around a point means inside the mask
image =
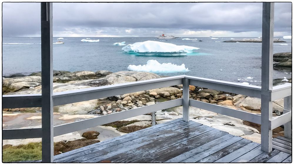
M 41 2 L 42 162 L 53 162 L 52 2 Z

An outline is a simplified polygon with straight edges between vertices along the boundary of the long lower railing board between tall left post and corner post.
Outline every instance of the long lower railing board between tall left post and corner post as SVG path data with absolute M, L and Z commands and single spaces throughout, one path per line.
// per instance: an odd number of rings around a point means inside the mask
M 91 127 L 95 127 L 98 125 L 103 125 L 111 122 L 115 122 L 118 120 L 123 120 L 126 118 L 135 117 L 138 115 L 143 115 L 146 113 L 151 113 L 158 110 L 163 110 L 167 108 L 172 108 L 176 106 L 181 106 L 183 103 L 182 98 L 165 101 L 162 103 L 156 103 L 150 106 L 144 106 L 140 108 L 130 109 L 126 111 L 121 111 L 118 113 L 112 113 L 108 115 L 99 116 L 96 118 L 76 121 L 73 123 L 58 125 L 54 127 L 54 136 L 64 135 L 66 133 L 83 130 Z

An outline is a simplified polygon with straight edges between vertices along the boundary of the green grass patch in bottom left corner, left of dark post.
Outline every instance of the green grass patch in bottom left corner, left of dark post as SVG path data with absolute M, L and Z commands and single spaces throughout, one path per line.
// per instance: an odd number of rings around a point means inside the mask
M 4 146 L 2 148 L 3 162 L 16 162 L 26 160 L 41 160 L 42 159 L 42 144 L 41 142 L 29 143 L 18 146 Z

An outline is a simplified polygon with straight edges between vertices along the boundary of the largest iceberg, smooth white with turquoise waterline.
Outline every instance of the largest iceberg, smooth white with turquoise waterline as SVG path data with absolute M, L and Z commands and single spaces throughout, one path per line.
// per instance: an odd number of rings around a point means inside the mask
M 141 53 L 143 55 L 186 55 L 187 53 L 193 53 L 193 50 L 197 49 L 199 48 L 158 41 L 136 42 L 121 48 L 125 52 Z

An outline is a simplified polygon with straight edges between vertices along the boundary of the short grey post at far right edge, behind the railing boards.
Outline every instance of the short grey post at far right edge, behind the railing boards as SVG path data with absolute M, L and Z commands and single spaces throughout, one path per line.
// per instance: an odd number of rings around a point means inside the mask
M 291 110 L 292 96 L 284 97 L 284 113 Z M 284 124 L 284 136 L 292 139 L 292 120 Z

